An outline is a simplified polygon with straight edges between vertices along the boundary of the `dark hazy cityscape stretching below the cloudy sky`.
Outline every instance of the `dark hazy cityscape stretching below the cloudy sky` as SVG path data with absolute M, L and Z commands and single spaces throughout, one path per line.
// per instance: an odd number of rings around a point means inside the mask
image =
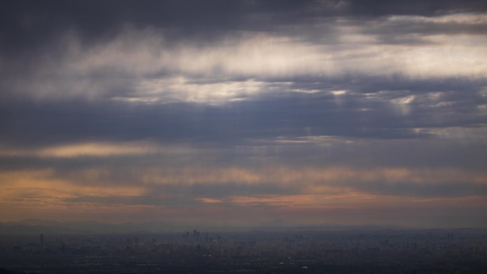
M 0 236 L 0 253 L 0 273 L 483 274 L 487 231 L 17 234 Z

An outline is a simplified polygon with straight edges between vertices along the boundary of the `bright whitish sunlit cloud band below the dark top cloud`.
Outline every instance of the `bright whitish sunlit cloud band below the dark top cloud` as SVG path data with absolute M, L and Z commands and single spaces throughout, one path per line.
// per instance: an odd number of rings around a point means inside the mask
M 382 27 L 396 21 L 485 23 L 476 14 L 392 16 L 381 22 Z M 169 43 L 162 30 L 126 28 L 111 41 L 84 46 L 70 33 L 61 41 L 65 51 L 40 56 L 35 73 L 3 85 L 12 92 L 41 99 L 108 97 L 130 102 L 216 103 L 271 90 L 261 80 L 249 79 L 326 78 L 350 73 L 418 79 L 487 75 L 485 35 L 422 36 L 430 43 L 412 46 L 382 43 L 357 22 L 337 20 L 313 27 L 323 33 L 332 29 L 337 39 L 325 43 L 324 36 L 314 43 L 297 36 L 232 33 L 214 43 Z M 215 82 L 194 81 L 208 79 Z

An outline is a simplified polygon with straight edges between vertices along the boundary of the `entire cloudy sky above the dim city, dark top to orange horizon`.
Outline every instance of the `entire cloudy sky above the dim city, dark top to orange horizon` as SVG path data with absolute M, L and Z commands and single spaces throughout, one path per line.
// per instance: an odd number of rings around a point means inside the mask
M 0 1 L 0 221 L 485 228 L 486 45 L 486 1 Z

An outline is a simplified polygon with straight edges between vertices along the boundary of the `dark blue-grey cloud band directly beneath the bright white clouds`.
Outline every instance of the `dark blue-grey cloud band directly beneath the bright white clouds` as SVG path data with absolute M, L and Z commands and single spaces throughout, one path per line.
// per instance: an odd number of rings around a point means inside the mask
M 323 89 L 322 83 L 298 81 L 286 89 Z M 438 128 L 481 127 L 487 122 L 487 97 L 478 91 L 485 80 L 351 82 L 342 80 L 340 87 L 348 90 L 343 94 L 280 90 L 224 106 L 9 102 L 2 107 L 5 130 L 0 138 L 24 145 L 97 138 L 243 144 L 249 139 L 323 135 L 417 138 Z

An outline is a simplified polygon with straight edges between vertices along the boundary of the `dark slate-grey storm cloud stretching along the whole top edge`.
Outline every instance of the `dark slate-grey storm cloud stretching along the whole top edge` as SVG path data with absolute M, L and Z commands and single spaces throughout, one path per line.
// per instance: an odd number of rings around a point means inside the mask
M 484 1 L 2 1 L 3 50 L 41 46 L 63 31 L 85 38 L 113 35 L 124 24 L 185 33 L 258 30 L 323 16 L 437 16 L 483 12 Z M 260 19 L 260 20 L 258 20 Z M 255 22 L 257 21 L 257 23 Z M 205 31 L 206 30 L 206 31 Z M 181 35 L 179 33 L 178 35 Z M 204 38 L 201 36 L 200 38 Z

